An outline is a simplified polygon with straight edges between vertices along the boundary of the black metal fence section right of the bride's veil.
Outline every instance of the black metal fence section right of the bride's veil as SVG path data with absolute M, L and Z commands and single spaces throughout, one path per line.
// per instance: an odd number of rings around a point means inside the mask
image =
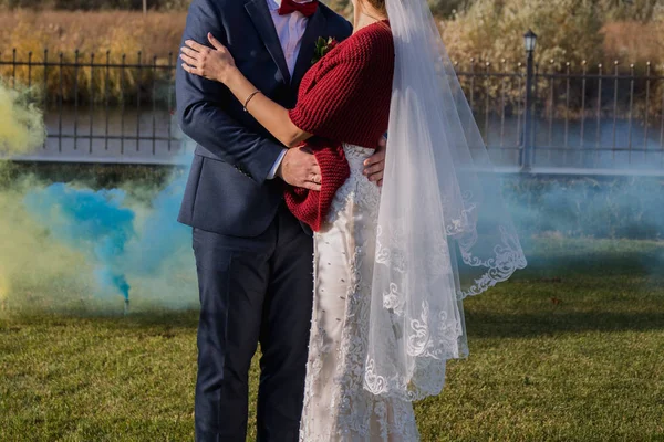
M 664 75 L 652 63 L 455 64 L 496 164 L 664 171 Z

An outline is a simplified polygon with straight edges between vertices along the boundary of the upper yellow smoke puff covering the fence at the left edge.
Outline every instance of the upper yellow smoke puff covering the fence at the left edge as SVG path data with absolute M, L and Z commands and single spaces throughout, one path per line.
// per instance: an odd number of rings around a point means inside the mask
M 46 130 L 42 112 L 27 91 L 0 83 L 0 156 L 24 154 L 40 146 Z

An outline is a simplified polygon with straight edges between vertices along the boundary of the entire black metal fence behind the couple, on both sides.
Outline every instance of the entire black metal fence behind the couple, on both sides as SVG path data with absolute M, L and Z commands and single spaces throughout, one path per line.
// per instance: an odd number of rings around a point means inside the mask
M 0 77 L 44 109 L 48 140 L 25 159 L 173 162 L 176 54 L 0 52 Z M 456 63 L 494 162 L 506 170 L 664 173 L 662 67 L 529 57 Z

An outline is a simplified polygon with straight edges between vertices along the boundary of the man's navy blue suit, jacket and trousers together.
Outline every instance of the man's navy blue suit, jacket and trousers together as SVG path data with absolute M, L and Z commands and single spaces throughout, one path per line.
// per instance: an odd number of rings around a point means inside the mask
M 194 0 L 183 42 L 211 32 L 263 94 L 293 107 L 315 40 L 351 34 L 320 4 L 292 78 L 266 0 Z M 298 440 L 312 308 L 312 239 L 267 180 L 283 148 L 221 84 L 178 67 L 177 114 L 197 144 L 178 220 L 194 228 L 200 293 L 196 440 L 245 441 L 260 343 L 259 441 Z

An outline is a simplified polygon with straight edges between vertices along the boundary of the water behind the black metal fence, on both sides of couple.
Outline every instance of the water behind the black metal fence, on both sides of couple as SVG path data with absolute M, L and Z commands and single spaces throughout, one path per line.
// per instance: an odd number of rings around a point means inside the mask
M 179 128 L 169 109 L 114 107 L 107 112 L 66 107 L 45 115 L 49 138 L 43 148 L 20 157 L 40 161 L 179 164 L 191 144 L 177 140 Z M 519 169 L 522 120 L 478 119 L 491 160 L 498 169 Z M 92 128 L 92 139 L 90 138 Z M 664 139 L 658 122 L 612 117 L 583 122 L 535 122 L 533 171 L 664 173 Z M 62 134 L 59 137 L 58 134 Z M 153 139 L 154 138 L 154 139 Z

